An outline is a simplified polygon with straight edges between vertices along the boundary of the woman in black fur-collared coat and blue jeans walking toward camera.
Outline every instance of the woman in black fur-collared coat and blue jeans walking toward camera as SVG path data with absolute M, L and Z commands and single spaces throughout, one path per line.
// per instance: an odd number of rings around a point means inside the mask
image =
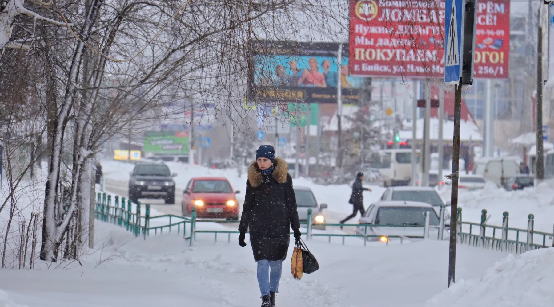
M 293 179 L 288 170 L 285 160 L 276 158 L 270 145 L 259 147 L 256 161 L 248 168 L 239 245 L 246 246 L 244 239 L 250 228 L 250 245 L 258 262 L 261 307 L 275 307 L 290 228 L 296 240 L 301 236 Z

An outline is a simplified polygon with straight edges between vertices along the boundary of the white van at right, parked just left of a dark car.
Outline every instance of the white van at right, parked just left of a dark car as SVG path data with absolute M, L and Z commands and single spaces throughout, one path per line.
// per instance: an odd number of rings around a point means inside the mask
M 475 160 L 473 174 L 483 176 L 486 180 L 496 183 L 496 186 L 502 187 L 506 178 L 520 174 L 519 163 L 517 157 L 480 158 Z

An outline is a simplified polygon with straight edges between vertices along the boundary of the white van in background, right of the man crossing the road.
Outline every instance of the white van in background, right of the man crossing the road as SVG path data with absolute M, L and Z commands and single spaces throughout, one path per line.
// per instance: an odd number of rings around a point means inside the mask
M 417 171 L 421 170 L 420 151 L 416 151 Z M 385 149 L 372 155 L 371 168 L 378 170 L 383 179 L 384 187 L 407 186 L 412 179 L 412 150 Z

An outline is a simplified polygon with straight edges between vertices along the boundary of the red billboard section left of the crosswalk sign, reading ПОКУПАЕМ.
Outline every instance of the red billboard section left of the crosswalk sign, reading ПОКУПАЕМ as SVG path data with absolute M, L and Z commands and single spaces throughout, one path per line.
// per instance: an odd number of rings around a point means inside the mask
M 350 3 L 350 72 L 358 76 L 444 76 L 444 1 Z

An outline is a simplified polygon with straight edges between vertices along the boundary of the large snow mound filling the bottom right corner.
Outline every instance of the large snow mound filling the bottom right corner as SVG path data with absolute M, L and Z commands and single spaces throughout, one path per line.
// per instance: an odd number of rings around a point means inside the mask
M 554 248 L 512 255 L 478 279 L 459 280 L 427 301 L 427 307 L 542 307 L 554 301 Z

